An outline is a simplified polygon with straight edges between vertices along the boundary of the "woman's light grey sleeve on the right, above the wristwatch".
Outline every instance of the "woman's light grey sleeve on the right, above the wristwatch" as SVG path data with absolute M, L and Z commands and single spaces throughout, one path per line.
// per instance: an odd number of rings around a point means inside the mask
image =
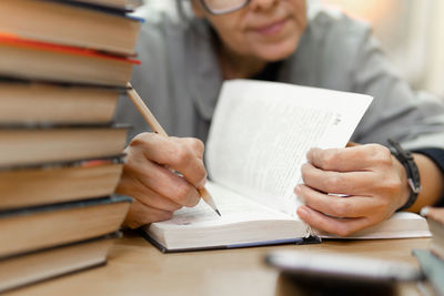
M 352 91 L 373 95 L 354 140 L 386 144 L 392 137 L 408 150 L 444 149 L 444 101 L 415 92 L 394 71 L 366 30 L 352 65 Z

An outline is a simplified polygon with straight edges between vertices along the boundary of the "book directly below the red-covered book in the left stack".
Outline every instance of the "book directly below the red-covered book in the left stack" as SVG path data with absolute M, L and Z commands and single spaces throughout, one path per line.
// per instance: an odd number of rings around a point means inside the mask
M 109 124 L 124 91 L 0 80 L 0 124 Z

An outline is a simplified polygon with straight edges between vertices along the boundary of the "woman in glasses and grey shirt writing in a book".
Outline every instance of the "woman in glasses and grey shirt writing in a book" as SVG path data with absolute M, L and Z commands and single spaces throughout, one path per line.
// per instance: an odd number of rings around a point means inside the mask
M 352 137 L 362 145 L 307 154 L 304 185 L 295 184 L 306 205 L 297 214 L 315 228 L 345 236 L 396 210 L 418 211 L 438 202 L 444 180 L 443 103 L 414 93 L 394 73 L 366 24 L 337 11 L 313 9 L 307 14 L 304 0 L 191 4 L 191 18 L 150 11 L 138 49 L 142 65 L 133 75 L 134 88 L 170 134 L 204 142 L 226 79 L 367 93 L 374 102 Z M 118 119 L 135 126 L 118 187 L 135 198 L 125 223 L 138 227 L 195 205 L 194 187 L 205 180 L 203 142 L 142 133 L 148 127 L 128 101 L 122 100 Z M 408 185 L 406 169 L 385 146 L 389 137 L 415 152 L 422 182 L 417 198 L 417 186 Z

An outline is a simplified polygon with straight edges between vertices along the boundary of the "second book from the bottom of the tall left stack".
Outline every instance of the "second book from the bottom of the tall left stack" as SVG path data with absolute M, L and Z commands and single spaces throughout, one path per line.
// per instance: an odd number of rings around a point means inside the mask
M 0 212 L 0 257 L 115 232 L 131 198 L 111 196 Z

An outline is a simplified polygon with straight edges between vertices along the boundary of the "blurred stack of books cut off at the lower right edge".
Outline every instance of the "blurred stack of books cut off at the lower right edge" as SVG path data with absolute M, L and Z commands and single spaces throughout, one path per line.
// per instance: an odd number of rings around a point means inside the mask
M 432 242 L 428 249 L 413 251 L 427 279 L 418 287 L 423 295 L 444 295 L 444 208 L 424 207 L 421 214 L 427 218 Z

